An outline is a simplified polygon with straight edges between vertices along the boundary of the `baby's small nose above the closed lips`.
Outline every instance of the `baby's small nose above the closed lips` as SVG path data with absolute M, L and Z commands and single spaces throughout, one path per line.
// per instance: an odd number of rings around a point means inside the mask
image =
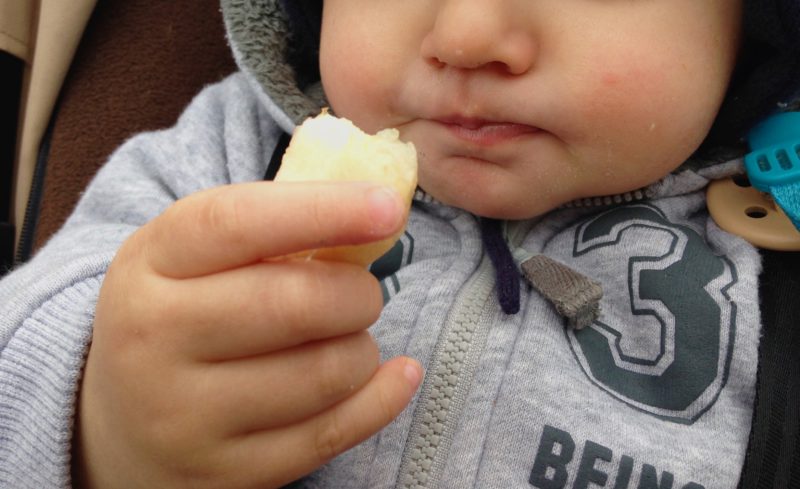
M 437 65 L 478 69 L 500 65 L 512 75 L 529 71 L 536 57 L 531 29 L 515 20 L 506 0 L 440 2 L 422 56 Z

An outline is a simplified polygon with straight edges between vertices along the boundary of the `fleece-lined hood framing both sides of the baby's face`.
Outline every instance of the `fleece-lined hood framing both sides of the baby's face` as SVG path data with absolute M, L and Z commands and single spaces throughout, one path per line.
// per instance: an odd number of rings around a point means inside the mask
M 283 129 L 327 105 L 318 54 L 322 0 L 222 0 L 239 67 Z M 742 156 L 755 123 L 800 110 L 800 0 L 744 0 L 743 44 L 728 95 L 706 141 L 682 169 Z

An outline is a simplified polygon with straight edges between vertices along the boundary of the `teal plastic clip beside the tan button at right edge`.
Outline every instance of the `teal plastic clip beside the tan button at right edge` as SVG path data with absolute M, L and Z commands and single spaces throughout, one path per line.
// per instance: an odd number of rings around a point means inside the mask
M 751 153 L 744 157 L 753 187 L 772 195 L 800 230 L 800 112 L 766 119 L 747 135 Z

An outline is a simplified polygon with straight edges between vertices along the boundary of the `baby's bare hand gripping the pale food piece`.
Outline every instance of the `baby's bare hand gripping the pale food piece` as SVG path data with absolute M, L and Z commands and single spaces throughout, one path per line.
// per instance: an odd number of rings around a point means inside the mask
M 260 182 L 179 201 L 120 249 L 97 304 L 74 473 L 85 487 L 277 487 L 397 416 L 421 370 L 379 366 L 362 267 L 287 259 L 397 232 L 368 184 Z

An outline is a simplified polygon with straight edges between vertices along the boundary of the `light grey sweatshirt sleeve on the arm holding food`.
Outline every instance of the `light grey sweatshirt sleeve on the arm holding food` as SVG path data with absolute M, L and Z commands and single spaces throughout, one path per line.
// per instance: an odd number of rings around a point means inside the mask
M 235 75 L 198 96 L 174 128 L 123 145 L 65 227 L 0 281 L 0 487 L 70 486 L 76 392 L 109 264 L 127 238 L 176 200 L 264 174 L 280 129 L 264 121 L 253 99 L 247 81 Z M 169 232 L 165 238 L 174 239 Z M 224 325 L 220 331 L 234 332 Z M 360 342 L 354 343 L 369 343 Z M 148 380 L 167 375 L 160 371 Z M 143 382 L 141 376 L 129 380 Z M 197 427 L 197 434 L 204 429 Z

